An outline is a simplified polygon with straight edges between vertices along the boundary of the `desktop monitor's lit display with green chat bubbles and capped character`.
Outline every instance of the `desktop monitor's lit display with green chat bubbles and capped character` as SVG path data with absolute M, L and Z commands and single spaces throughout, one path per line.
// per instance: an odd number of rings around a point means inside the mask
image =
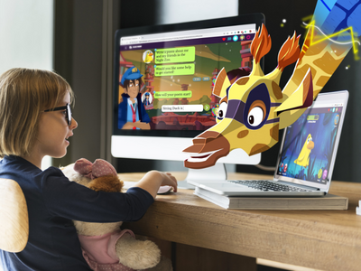
M 216 124 L 218 72 L 252 70 L 255 24 L 120 38 L 117 129 L 199 130 Z M 228 76 L 229 78 L 229 76 Z

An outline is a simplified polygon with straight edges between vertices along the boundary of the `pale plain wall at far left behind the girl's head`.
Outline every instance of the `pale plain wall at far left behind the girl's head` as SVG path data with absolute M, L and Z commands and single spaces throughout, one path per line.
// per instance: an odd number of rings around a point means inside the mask
M 14 67 L 52 70 L 53 0 L 0 0 L 0 74 Z M 42 167 L 51 165 L 46 157 Z

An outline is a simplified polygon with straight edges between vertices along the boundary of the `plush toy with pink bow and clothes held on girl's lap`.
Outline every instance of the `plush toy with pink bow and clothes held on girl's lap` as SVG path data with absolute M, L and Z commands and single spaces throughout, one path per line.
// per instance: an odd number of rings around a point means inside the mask
M 116 169 L 105 160 L 97 159 L 92 164 L 82 158 L 61 170 L 70 181 L 94 191 L 122 192 L 123 182 L 119 180 Z M 121 230 L 122 223 L 74 220 L 83 256 L 93 270 L 172 270 L 171 260 L 161 257 L 156 244 L 134 238 L 129 229 Z

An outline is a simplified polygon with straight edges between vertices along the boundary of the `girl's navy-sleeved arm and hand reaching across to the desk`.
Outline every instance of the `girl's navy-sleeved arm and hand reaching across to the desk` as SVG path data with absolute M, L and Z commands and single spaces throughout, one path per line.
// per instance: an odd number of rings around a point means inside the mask
M 54 167 L 35 179 L 51 217 L 97 223 L 140 220 L 161 185 L 171 185 L 175 192 L 177 189 L 177 181 L 170 173 L 156 171 L 146 173 L 135 183 L 137 187 L 125 193 L 95 192 L 77 182 L 69 182 L 60 169 Z

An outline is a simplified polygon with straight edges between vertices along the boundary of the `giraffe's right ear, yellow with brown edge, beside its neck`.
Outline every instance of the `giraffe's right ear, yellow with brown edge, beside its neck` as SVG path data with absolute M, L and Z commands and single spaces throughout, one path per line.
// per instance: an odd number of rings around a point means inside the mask
M 274 111 L 280 117 L 280 129 L 292 125 L 301 114 L 310 107 L 313 102 L 313 85 L 310 69 L 298 89 L 296 89 L 289 98 L 282 102 L 281 106 Z M 292 110 L 292 111 L 291 111 Z

